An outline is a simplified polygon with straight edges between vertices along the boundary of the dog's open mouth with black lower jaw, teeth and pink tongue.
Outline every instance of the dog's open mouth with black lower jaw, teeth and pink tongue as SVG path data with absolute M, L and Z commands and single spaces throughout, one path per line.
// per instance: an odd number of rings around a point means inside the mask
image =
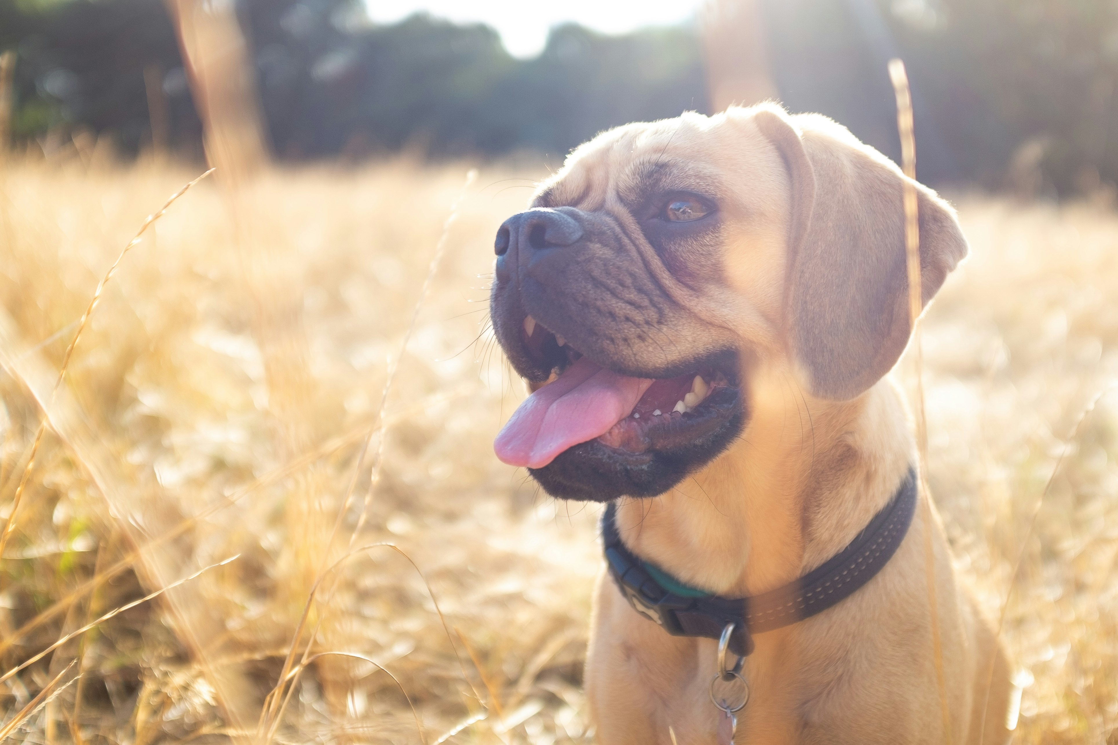
M 494 449 L 504 462 L 527 466 L 555 496 L 661 494 L 741 429 L 736 354 L 713 354 L 655 379 L 598 364 L 531 316 L 518 341 L 551 376 L 533 385 Z

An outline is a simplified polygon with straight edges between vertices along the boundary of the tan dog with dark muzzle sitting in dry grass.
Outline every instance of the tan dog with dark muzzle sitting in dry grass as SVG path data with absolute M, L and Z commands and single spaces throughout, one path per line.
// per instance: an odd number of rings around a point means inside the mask
M 625 546 L 720 596 L 839 554 L 915 464 L 882 380 L 909 337 L 903 181 L 844 127 L 773 105 L 580 146 L 498 233 L 494 327 L 536 391 L 499 456 L 557 497 L 636 497 L 616 510 Z M 919 216 L 927 304 L 967 247 L 923 187 Z M 1005 658 L 927 514 L 854 594 L 754 637 L 735 742 L 1006 741 Z M 598 739 L 724 741 L 717 647 L 669 636 L 604 577 L 586 665 Z

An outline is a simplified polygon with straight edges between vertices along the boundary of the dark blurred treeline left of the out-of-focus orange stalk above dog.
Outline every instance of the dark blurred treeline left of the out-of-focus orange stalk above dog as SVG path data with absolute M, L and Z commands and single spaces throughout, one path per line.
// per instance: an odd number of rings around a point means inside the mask
M 150 141 L 145 93 L 163 71 L 169 140 L 197 151 L 200 124 L 161 0 L 0 0 L 0 48 L 18 45 L 17 107 L 50 127 Z M 418 147 L 435 156 L 541 150 L 561 156 L 600 130 L 705 108 L 688 29 L 625 37 L 556 29 L 543 54 L 512 58 L 485 26 L 414 16 L 369 25 L 359 0 L 240 0 L 267 134 L 283 157 L 356 157 Z

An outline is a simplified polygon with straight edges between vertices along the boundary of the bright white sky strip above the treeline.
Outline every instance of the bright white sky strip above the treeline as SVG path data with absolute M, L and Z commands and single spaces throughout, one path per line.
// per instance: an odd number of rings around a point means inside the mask
M 548 29 L 576 21 L 606 34 L 694 18 L 703 0 L 366 0 L 369 17 L 392 23 L 420 10 L 452 21 L 489 23 L 517 57 L 543 49 Z

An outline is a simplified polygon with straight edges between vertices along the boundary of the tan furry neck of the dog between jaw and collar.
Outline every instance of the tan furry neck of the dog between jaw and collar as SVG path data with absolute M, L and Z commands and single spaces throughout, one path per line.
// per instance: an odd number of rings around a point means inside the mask
M 836 403 L 812 399 L 785 370 L 748 380 L 750 418 L 724 453 L 670 493 L 617 509 L 634 553 L 726 596 L 780 586 L 842 551 L 912 458 L 906 410 L 888 381 Z

